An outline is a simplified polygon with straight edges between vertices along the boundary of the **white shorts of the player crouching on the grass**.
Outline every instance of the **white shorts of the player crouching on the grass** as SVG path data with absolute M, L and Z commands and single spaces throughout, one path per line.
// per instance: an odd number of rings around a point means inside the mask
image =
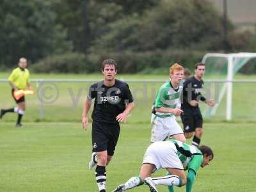
M 156 170 L 160 168 L 184 169 L 177 155 L 177 149 L 170 141 L 158 141 L 149 145 L 143 158 L 144 163 L 154 164 Z

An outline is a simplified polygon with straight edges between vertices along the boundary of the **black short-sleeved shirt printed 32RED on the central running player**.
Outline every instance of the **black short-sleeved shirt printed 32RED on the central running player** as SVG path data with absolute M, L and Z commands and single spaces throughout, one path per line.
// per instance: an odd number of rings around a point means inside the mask
M 92 119 L 106 123 L 118 123 L 116 116 L 124 112 L 125 104 L 133 101 L 128 84 L 117 79 L 110 87 L 105 86 L 103 81 L 92 84 L 88 99 L 95 99 Z

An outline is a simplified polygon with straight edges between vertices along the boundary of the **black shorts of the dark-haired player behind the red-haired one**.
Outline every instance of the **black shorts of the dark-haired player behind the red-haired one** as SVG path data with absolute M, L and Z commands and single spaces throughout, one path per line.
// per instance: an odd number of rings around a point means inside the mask
M 201 114 L 197 115 L 181 115 L 184 132 L 194 132 L 197 127 L 203 128 L 203 117 Z

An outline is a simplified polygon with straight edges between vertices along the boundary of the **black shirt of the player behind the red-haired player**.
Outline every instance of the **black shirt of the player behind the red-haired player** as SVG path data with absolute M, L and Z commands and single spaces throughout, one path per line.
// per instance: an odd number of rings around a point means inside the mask
M 181 109 L 184 113 L 200 113 L 198 106 L 193 107 L 189 104 L 191 100 L 205 101 L 205 97 L 202 95 L 202 88 L 204 87 L 204 81 L 198 81 L 194 76 L 189 77 L 183 84 L 183 95 L 181 102 Z

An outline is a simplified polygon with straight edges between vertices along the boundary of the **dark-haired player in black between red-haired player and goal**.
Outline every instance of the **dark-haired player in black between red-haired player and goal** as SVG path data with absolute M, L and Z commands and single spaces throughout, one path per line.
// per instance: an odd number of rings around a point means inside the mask
M 203 118 L 198 107 L 199 100 L 205 102 L 209 106 L 214 106 L 215 102 L 212 99 L 206 99 L 202 95 L 202 88 L 204 88 L 204 81 L 202 77 L 205 74 L 205 64 L 196 63 L 195 76 L 186 79 L 183 85 L 183 102 L 181 109 L 181 120 L 184 127 L 184 135 L 186 138 L 191 138 L 194 134 L 192 145 L 199 146 L 203 133 Z

